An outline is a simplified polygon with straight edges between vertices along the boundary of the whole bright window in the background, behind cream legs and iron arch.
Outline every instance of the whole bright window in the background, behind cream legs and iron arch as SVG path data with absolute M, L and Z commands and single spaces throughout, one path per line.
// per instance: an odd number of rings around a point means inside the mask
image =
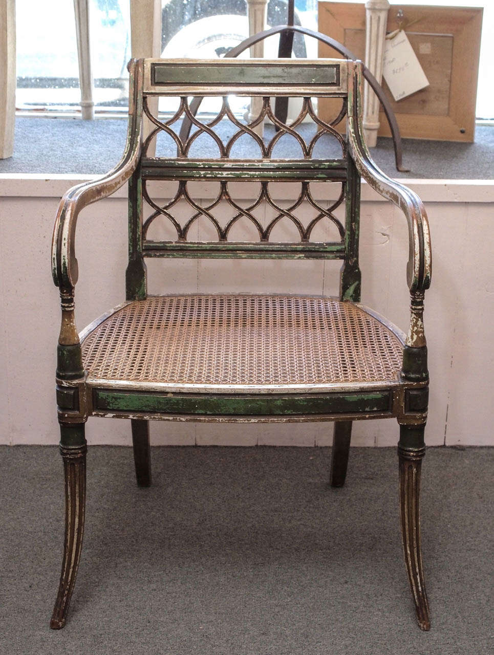
M 90 0 L 94 104 L 97 113 L 126 111 L 130 0 Z M 47 7 L 49 10 L 47 10 Z M 72 3 L 16 0 L 17 94 L 22 111 L 79 111 L 79 65 Z M 295 21 L 317 29 L 317 0 L 296 0 Z M 57 16 L 57 21 L 52 16 Z M 30 20 L 22 20 L 30 16 Z M 268 25 L 286 22 L 286 2 L 269 0 Z M 246 0 L 162 0 L 162 54 L 215 58 L 248 37 Z M 317 56 L 317 43 L 297 35 L 296 56 Z M 275 58 L 278 37 L 265 42 Z M 248 53 L 246 53 L 248 56 Z

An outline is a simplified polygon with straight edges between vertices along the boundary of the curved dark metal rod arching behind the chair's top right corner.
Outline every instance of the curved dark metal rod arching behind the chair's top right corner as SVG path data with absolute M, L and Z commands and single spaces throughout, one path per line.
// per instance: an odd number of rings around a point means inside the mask
M 317 39 L 318 41 L 321 41 L 322 43 L 328 45 L 330 48 L 333 48 L 340 54 L 343 54 L 345 58 L 352 59 L 352 60 L 357 59 L 357 57 L 353 54 L 353 52 L 351 52 L 351 50 L 346 48 L 342 43 L 339 43 L 339 41 L 335 41 L 335 39 L 328 37 L 328 35 L 323 34 L 322 32 L 316 32 L 313 29 L 303 28 L 298 25 L 278 25 L 275 26 L 274 28 L 265 29 L 262 32 L 257 32 L 257 34 L 248 37 L 248 39 L 244 39 L 242 43 L 239 43 L 234 48 L 231 48 L 226 53 L 226 56 L 238 57 L 238 55 L 242 54 L 244 50 L 247 50 L 251 46 L 258 43 L 259 41 L 263 41 L 264 39 L 267 39 L 267 37 L 271 37 L 275 34 L 279 34 L 280 32 L 284 32 L 284 31 L 299 32 L 300 34 L 305 34 L 306 36 L 313 37 L 313 39 Z M 394 161 L 396 164 L 396 170 L 399 170 L 402 173 L 407 173 L 409 171 L 409 168 L 404 168 L 402 166 L 402 138 L 400 135 L 400 128 L 398 127 L 398 123 L 396 122 L 396 117 L 394 116 L 394 111 L 391 109 L 391 105 L 383 92 L 383 88 L 381 84 L 377 82 L 377 79 L 375 79 L 375 77 L 372 75 L 371 71 L 368 69 L 366 65 L 364 65 L 363 71 L 364 71 L 365 79 L 371 85 L 371 88 L 373 92 L 376 94 L 377 98 L 379 98 L 379 102 L 383 107 L 384 113 L 389 123 L 389 127 L 392 134 L 392 140 L 393 140 Z M 194 115 L 199 110 L 199 106 L 201 102 L 202 102 L 202 98 L 199 98 L 197 96 L 193 98 L 190 108 L 191 108 L 191 112 L 194 113 Z M 187 117 L 185 117 L 183 119 L 181 130 L 180 130 L 180 140 L 182 142 L 184 140 L 185 141 L 187 140 L 189 133 L 191 131 L 191 126 L 192 126 L 191 121 L 187 119 Z

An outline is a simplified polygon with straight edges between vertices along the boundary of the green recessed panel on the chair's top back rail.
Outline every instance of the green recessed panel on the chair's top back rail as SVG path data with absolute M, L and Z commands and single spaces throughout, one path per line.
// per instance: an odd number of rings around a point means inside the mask
M 191 62 L 151 64 L 151 84 L 204 84 L 220 86 L 339 86 L 339 64 L 299 64 L 297 67 L 265 63 L 248 64 L 241 60 L 232 64 Z

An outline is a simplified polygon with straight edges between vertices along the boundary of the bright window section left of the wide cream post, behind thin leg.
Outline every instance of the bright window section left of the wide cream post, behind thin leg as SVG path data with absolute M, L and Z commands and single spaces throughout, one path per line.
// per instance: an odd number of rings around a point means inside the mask
M 16 0 L 16 12 L 16 107 L 77 111 L 81 92 L 73 3 Z M 29 20 L 22 20 L 23 16 L 29 16 Z M 128 105 L 129 25 L 129 0 L 90 0 L 92 74 L 97 109 L 124 109 Z

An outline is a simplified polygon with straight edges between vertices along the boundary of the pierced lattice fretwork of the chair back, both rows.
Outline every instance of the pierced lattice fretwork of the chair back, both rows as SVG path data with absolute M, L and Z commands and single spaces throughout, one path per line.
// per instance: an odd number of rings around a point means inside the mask
M 216 108 L 206 105 L 208 113 L 198 113 L 191 99 L 180 98 L 168 120 L 152 117 L 145 102 L 155 124 L 143 146 L 145 244 L 343 244 L 336 211 L 345 198 L 347 151 L 333 125 L 345 115 L 346 100 L 339 115 L 324 122 L 313 100 L 300 98 L 299 115 L 289 124 L 276 118 L 269 97 L 250 122 L 232 111 L 228 97 L 206 100 L 216 101 Z M 153 141 L 156 157 L 149 159 Z M 168 193 L 157 189 L 158 180 L 166 181 Z M 165 231 L 157 226 L 161 221 Z M 164 233 L 168 238 L 158 236 Z

